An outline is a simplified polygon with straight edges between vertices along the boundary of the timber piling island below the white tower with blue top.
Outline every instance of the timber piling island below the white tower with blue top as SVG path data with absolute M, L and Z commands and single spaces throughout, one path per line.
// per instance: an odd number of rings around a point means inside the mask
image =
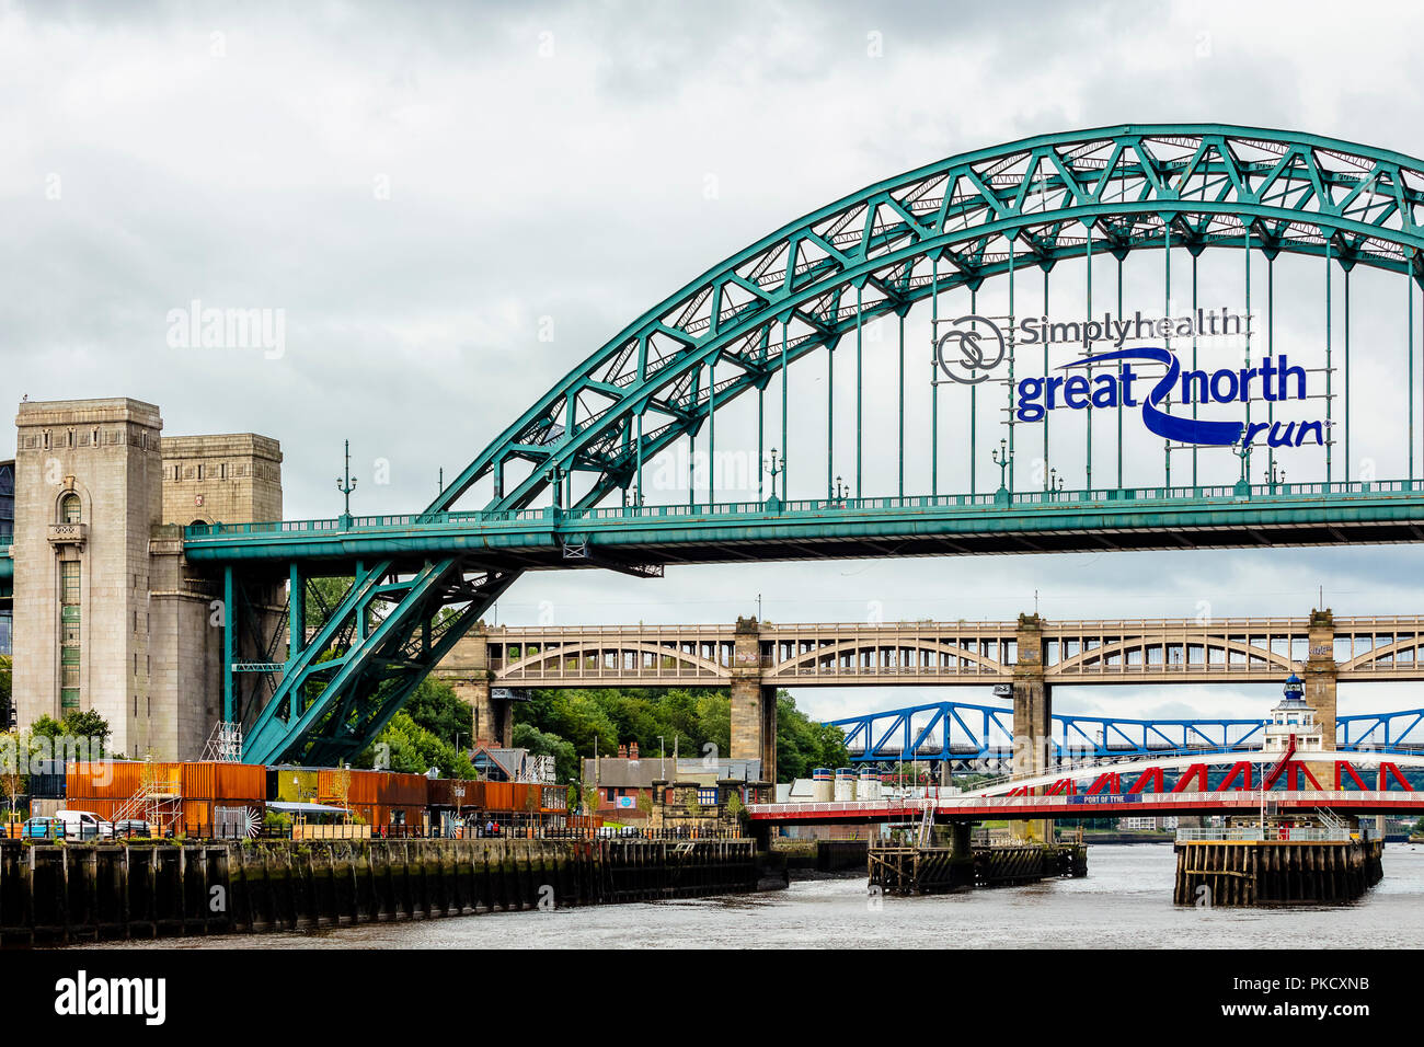
M 1380 840 L 1183 840 L 1176 905 L 1351 902 L 1384 876 Z

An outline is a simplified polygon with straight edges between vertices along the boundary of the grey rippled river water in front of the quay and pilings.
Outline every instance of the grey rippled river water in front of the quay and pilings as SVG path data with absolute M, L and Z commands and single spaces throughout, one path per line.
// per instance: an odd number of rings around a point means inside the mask
M 1358 902 L 1343 906 L 1178 907 L 1172 905 L 1173 870 L 1168 843 L 1104 845 L 1089 848 L 1084 879 L 960 895 L 873 900 L 864 879 L 819 879 L 750 896 L 114 944 L 124 949 L 1390 949 L 1424 943 L 1424 846 L 1387 846 L 1384 879 Z

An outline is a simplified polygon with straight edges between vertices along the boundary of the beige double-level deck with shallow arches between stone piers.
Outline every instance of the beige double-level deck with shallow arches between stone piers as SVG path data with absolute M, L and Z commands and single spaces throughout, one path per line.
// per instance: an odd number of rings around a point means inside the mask
M 1042 621 L 1042 675 L 1055 684 L 1279 682 L 1329 657 L 1341 682 L 1424 679 L 1424 617 L 1334 618 L 1312 651 L 1310 618 Z M 755 627 L 755 665 L 780 687 L 1011 682 L 1020 623 L 819 623 Z M 746 640 L 746 624 L 742 627 Z M 726 685 L 736 625 L 480 628 L 494 679 L 513 687 Z M 1321 645 L 1317 644 L 1317 648 Z

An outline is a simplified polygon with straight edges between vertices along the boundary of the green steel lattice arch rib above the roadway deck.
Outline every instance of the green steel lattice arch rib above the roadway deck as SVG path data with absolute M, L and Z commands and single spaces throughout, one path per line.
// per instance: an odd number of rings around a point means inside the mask
M 863 319 L 1011 266 L 1125 256 L 1172 242 L 1252 244 L 1424 278 L 1424 162 L 1316 135 L 1222 124 L 1124 125 L 1028 138 L 877 182 L 738 252 L 634 321 L 504 430 L 427 509 L 494 473 L 488 509 L 521 509 L 550 477 L 594 474 L 580 506 L 631 483 L 634 463 L 696 433 L 785 363 Z M 1017 245 L 1011 249 L 1011 244 Z M 1329 246 L 1327 246 L 1329 245 Z M 936 275 L 933 268 L 938 268 Z M 860 309 L 843 303 L 862 292 Z M 709 363 L 738 373 L 715 392 Z M 642 433 L 635 419 L 654 415 Z M 504 490 L 508 462 L 531 470 Z

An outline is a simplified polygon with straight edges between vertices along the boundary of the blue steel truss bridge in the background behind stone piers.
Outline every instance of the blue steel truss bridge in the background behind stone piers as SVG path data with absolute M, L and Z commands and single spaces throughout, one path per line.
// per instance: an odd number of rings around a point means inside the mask
M 967 702 L 930 702 L 827 721 L 840 728 L 854 764 L 983 761 L 1010 751 L 1014 711 Z M 1054 759 L 1118 759 L 1165 752 L 1259 749 L 1265 719 L 1126 719 L 1054 714 Z M 1336 718 L 1340 751 L 1424 751 L 1424 709 Z

